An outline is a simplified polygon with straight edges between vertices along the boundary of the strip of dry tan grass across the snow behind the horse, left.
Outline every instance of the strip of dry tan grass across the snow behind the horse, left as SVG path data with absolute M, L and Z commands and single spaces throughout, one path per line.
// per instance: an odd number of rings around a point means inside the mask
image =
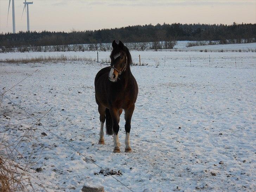
M 39 63 L 39 62 L 65 62 L 65 61 L 91 61 L 95 62 L 96 59 L 77 57 L 77 56 L 49 56 L 49 57 L 31 57 L 31 58 L 18 58 L 18 59 L 5 59 L 0 60 L 0 63 Z

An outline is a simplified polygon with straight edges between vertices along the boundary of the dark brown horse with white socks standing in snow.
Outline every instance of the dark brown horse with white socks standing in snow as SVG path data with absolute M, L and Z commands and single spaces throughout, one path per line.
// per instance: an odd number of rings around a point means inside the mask
M 103 127 L 106 120 L 106 134 L 114 135 L 113 152 L 120 153 L 119 121 L 124 110 L 124 128 L 126 131 L 124 152 L 132 152 L 129 137 L 132 115 L 138 95 L 138 85 L 130 70 L 132 57 L 129 49 L 124 46 L 122 41 L 117 44 L 115 40 L 112 47 L 110 66 L 98 71 L 94 81 L 95 100 L 98 104 L 101 123 L 98 143 L 105 144 Z

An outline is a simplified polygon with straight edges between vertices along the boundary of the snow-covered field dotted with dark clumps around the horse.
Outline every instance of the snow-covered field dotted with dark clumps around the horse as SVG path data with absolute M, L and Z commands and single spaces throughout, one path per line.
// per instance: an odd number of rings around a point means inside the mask
M 1 53 L 0 58 L 40 54 L 96 58 L 93 51 Z M 109 54 L 99 52 L 99 60 L 108 59 Z M 105 145 L 98 144 L 100 121 L 94 78 L 108 64 L 1 63 L 1 92 L 38 69 L 6 92 L 12 103 L 4 97 L 0 113 L 1 140 L 17 143 L 15 140 L 28 132 L 13 155 L 20 170 L 29 165 L 26 177 L 30 177 L 34 190 L 81 191 L 85 184 L 104 186 L 105 191 L 129 191 L 109 175 L 104 176 L 105 171 L 102 173 L 97 164 L 113 170 L 113 176 L 133 191 L 255 191 L 256 53 L 131 54 L 135 63 L 141 55 L 142 62 L 148 64 L 131 68 L 139 85 L 130 133 L 132 153 L 124 153 L 123 114 L 121 153 L 112 153 L 112 136 L 105 136 Z M 41 124 L 34 125 L 37 120 L 15 104 L 36 118 L 42 117 Z

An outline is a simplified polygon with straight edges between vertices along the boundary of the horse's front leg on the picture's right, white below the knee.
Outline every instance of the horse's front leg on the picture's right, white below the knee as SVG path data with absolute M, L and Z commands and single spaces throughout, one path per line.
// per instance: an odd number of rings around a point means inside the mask
M 130 146 L 130 130 L 131 130 L 131 120 L 132 120 L 132 116 L 133 116 L 134 105 L 132 105 L 130 108 L 128 108 L 124 111 L 125 111 L 125 114 L 124 114 L 124 119 L 125 119 L 124 128 L 125 128 L 125 132 L 126 132 L 124 152 L 132 152 L 132 148 Z

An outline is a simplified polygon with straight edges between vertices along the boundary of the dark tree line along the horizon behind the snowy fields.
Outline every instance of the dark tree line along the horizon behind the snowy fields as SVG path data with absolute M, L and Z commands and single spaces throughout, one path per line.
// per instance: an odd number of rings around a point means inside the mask
M 0 47 L 49 46 L 111 43 L 114 39 L 127 43 L 167 42 L 176 40 L 219 41 L 225 43 L 255 42 L 256 24 L 156 24 L 135 25 L 101 30 L 71 32 L 31 31 L 0 33 Z M 165 46 L 165 45 L 162 45 Z

